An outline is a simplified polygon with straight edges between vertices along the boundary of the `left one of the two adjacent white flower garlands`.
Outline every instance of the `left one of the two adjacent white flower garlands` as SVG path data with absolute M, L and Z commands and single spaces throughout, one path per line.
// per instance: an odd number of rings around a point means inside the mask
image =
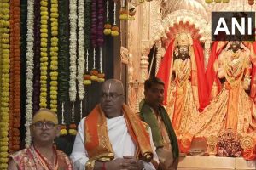
M 69 80 L 69 98 L 70 101 L 76 100 L 76 75 L 77 75 L 77 1 L 71 0 L 69 3 L 69 20 L 70 20 L 70 80 Z

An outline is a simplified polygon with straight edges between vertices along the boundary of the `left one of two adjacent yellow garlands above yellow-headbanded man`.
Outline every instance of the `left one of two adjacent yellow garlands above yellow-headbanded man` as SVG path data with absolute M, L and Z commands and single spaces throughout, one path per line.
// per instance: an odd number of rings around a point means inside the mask
M 47 55 L 47 20 L 49 18 L 48 14 L 48 2 L 47 0 L 40 1 L 40 15 L 41 15 L 41 26 L 40 26 L 40 37 L 41 37 L 41 52 L 40 52 L 40 107 L 47 107 L 47 66 L 48 66 L 48 55 Z

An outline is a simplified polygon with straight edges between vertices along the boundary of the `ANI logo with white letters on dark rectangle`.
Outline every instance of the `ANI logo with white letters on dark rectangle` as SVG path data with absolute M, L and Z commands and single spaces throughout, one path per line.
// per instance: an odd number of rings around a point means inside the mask
M 212 12 L 212 41 L 255 41 L 255 12 Z

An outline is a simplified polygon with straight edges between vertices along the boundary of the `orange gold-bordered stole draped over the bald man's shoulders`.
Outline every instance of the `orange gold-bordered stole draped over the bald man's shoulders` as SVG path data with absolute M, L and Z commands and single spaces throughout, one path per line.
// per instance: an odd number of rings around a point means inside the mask
M 123 113 L 128 132 L 138 148 L 137 158 L 138 156 L 142 156 L 144 161 L 151 161 L 153 151 L 143 122 L 125 104 L 123 105 Z M 114 154 L 108 138 L 107 119 L 100 105 L 96 105 L 94 110 L 86 117 L 84 127 L 85 149 L 88 152 L 90 160 L 113 160 Z

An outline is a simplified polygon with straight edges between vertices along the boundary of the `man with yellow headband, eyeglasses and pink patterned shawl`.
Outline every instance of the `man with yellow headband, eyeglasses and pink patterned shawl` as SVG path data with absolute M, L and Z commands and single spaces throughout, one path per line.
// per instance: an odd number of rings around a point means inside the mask
M 60 132 L 55 112 L 39 110 L 32 119 L 32 145 L 10 156 L 9 170 L 73 170 L 68 156 L 54 147 L 54 139 Z

